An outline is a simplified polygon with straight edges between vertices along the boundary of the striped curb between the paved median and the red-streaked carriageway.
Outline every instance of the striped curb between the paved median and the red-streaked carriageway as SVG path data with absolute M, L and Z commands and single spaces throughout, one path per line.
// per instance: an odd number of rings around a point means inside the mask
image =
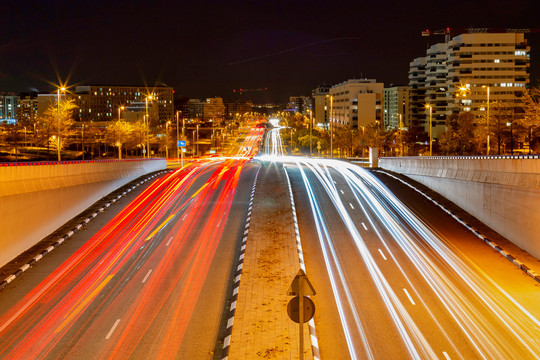
M 244 226 L 244 233 L 242 237 L 242 247 L 240 248 L 240 255 L 238 256 L 238 265 L 234 274 L 234 289 L 233 296 L 231 298 L 231 307 L 229 309 L 229 316 L 227 320 L 227 328 L 225 330 L 225 338 L 223 339 L 223 352 L 221 355 L 222 360 L 229 358 L 229 349 L 231 345 L 232 326 L 234 323 L 234 314 L 236 313 L 236 301 L 238 300 L 238 290 L 240 288 L 240 278 L 242 277 L 242 268 L 244 266 L 244 254 L 246 252 L 247 235 L 249 232 L 249 223 L 251 221 L 251 210 L 253 209 L 253 197 L 255 196 L 255 187 L 257 186 L 257 178 L 259 177 L 260 168 L 255 174 L 255 180 L 253 181 L 253 187 L 251 188 L 251 197 L 249 199 L 249 206 L 246 218 L 246 225 Z

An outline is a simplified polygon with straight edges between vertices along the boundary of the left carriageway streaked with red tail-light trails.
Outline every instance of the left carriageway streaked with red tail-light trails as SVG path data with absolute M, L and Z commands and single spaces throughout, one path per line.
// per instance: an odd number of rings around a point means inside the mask
M 211 358 L 262 133 L 154 181 L 0 315 L 0 358 Z

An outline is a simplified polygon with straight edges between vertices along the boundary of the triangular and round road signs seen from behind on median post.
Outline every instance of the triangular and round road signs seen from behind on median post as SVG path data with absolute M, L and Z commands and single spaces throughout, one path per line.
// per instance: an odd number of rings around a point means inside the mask
M 315 295 L 315 289 L 306 276 L 304 270 L 300 269 L 294 278 L 291 286 L 287 290 L 287 295 L 295 296 L 287 305 L 287 313 L 292 321 L 297 322 L 300 331 L 299 359 L 304 359 L 304 323 L 313 318 L 315 314 L 315 304 L 305 295 Z

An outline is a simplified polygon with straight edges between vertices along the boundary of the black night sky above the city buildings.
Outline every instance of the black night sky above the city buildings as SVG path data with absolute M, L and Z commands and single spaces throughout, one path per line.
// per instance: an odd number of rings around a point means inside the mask
M 319 84 L 406 84 L 409 62 L 444 36 L 424 29 L 540 27 L 540 1 L 0 0 L 0 91 L 49 83 L 168 85 L 175 95 L 258 102 Z M 540 33 L 528 35 L 540 79 Z M 252 96 L 253 95 L 253 96 Z M 237 96 L 237 95 L 236 95 Z

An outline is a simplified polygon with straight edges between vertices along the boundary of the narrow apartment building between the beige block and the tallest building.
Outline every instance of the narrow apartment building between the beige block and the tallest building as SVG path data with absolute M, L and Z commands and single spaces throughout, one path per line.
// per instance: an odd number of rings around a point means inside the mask
M 409 87 L 391 86 L 384 88 L 384 125 L 397 129 L 408 126 Z

